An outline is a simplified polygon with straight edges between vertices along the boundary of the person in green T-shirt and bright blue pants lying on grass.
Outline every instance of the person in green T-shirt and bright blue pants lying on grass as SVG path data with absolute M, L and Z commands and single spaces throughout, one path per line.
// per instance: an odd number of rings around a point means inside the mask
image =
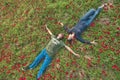
M 22 70 L 26 71 L 28 69 L 33 69 L 35 68 L 39 62 L 45 58 L 38 74 L 37 74 L 37 80 L 40 79 L 40 77 L 42 76 L 42 74 L 44 73 L 44 71 L 46 70 L 46 68 L 48 67 L 48 65 L 51 63 L 53 57 L 55 56 L 55 54 L 59 51 L 60 48 L 65 47 L 68 51 L 70 51 L 71 53 L 73 53 L 75 56 L 80 57 L 79 54 L 76 54 L 70 47 L 68 47 L 67 45 L 65 45 L 62 42 L 62 39 L 64 37 L 64 35 L 62 33 L 58 34 L 57 37 L 55 37 L 51 31 L 47 28 L 46 29 L 48 31 L 48 33 L 51 35 L 51 40 L 49 41 L 48 45 L 42 50 L 42 52 L 35 58 L 35 60 L 33 61 L 32 64 L 30 64 L 27 67 L 22 68 Z

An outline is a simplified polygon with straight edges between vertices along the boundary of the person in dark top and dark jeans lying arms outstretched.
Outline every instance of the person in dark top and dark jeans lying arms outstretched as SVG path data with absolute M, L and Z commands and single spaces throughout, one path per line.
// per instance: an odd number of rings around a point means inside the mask
M 63 23 L 60 22 L 60 24 L 63 26 L 65 31 L 69 34 L 68 36 L 68 41 L 71 43 L 74 38 L 76 38 L 78 41 L 82 43 L 87 43 L 87 44 L 94 44 L 96 45 L 97 43 L 95 41 L 87 41 L 84 40 L 81 37 L 81 34 L 90 26 L 90 24 L 95 20 L 95 18 L 99 15 L 101 12 L 102 8 L 104 7 L 104 4 L 100 7 L 98 7 L 97 10 L 91 9 L 89 10 L 80 20 L 79 22 L 71 29 L 68 27 L 64 26 Z

